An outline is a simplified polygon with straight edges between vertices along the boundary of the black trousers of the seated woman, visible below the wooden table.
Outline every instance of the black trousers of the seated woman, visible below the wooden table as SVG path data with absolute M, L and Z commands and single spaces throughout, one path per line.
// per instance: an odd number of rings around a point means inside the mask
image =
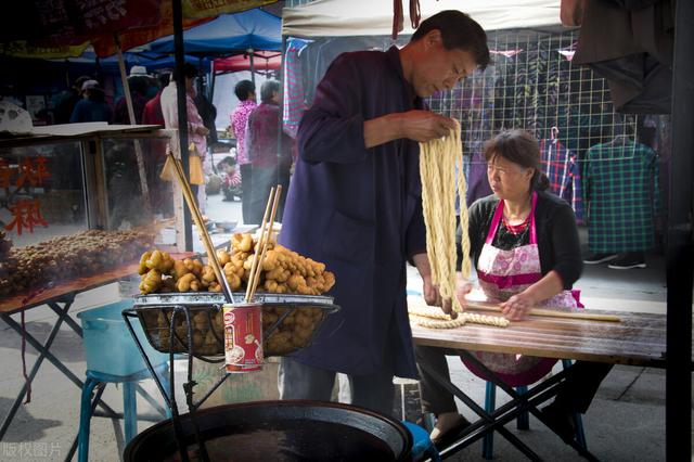
M 417 368 L 422 389 L 422 409 L 438 415 L 445 412 L 458 412 L 453 395 L 448 393 L 434 377 L 420 367 L 426 363 L 429 369 L 450 380 L 446 356 L 460 356 L 460 351 L 448 348 L 415 346 Z M 586 413 L 601 382 L 612 370 L 606 362 L 576 361 L 569 369 L 566 380 L 560 385 L 554 403 L 567 412 Z

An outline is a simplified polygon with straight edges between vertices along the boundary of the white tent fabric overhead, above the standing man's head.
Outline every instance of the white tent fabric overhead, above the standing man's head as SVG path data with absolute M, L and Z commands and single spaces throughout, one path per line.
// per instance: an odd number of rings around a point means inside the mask
M 444 10 L 470 14 L 485 30 L 556 26 L 560 0 L 420 0 L 422 21 Z M 402 0 L 404 29 L 411 35 L 409 0 Z M 389 36 L 393 1 L 317 0 L 282 11 L 282 35 L 291 37 Z

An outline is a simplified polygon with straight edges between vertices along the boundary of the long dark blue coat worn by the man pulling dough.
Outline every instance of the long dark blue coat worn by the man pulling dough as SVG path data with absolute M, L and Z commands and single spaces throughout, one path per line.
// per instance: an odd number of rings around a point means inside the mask
M 416 376 L 406 305 L 406 262 L 426 252 L 419 145 L 364 147 L 364 120 L 422 108 L 399 52 L 339 55 L 298 130 L 299 159 L 280 242 L 335 273 L 342 310 L 294 358 L 350 374 Z

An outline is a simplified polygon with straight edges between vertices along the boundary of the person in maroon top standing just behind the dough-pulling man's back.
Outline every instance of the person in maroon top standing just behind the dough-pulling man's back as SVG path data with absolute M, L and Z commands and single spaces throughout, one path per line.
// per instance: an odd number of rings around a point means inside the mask
M 294 141 L 284 132 L 280 141 L 280 82 L 266 80 L 260 87 L 260 104 L 248 115 L 245 136 L 246 156 L 253 166 L 249 220 L 254 224 L 262 222 L 270 190 L 277 184 L 281 184 L 284 192 L 274 219 L 282 221 Z M 244 191 L 244 195 L 247 193 Z

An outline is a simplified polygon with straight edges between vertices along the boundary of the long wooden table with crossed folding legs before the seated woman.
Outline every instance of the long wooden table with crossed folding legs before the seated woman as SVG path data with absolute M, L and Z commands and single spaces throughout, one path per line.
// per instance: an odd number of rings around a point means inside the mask
M 470 311 L 492 315 L 489 311 Z M 531 412 L 540 421 L 543 421 L 537 406 L 556 395 L 557 387 L 568 371 L 554 374 L 551 378 L 536 384 L 526 394 L 519 396 L 513 387 L 507 386 L 492 371 L 479 363 L 470 351 L 511 352 L 557 359 L 665 368 L 665 316 L 586 309 L 563 309 L 563 311 L 615 315 L 620 318 L 620 322 L 531 316 L 526 321 L 512 322 L 507 328 L 467 323 L 457 329 L 437 330 L 412 325 L 412 336 L 417 345 L 460 350 L 462 356 L 476 363 L 488 376 L 493 377 L 493 382 L 513 398 L 511 402 L 490 414 L 455 387 L 450 380 L 428 370 L 442 386 L 480 416 L 480 420 L 471 425 L 459 441 L 441 450 L 442 457 L 463 449 L 481 438 L 486 433 L 498 431 L 529 459 L 540 460 L 539 455 L 503 425 L 525 411 Z M 593 454 L 576 441 L 570 446 L 587 459 L 596 460 Z

